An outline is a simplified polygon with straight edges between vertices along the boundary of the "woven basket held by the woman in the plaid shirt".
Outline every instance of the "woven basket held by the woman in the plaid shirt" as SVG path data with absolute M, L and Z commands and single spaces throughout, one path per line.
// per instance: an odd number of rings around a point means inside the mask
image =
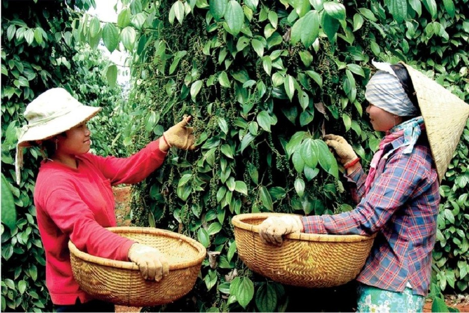
M 254 272 L 301 287 L 332 287 L 357 277 L 365 265 L 373 236 L 293 233 L 281 246 L 263 243 L 259 227 L 278 213 L 240 214 L 232 218 L 238 254 Z

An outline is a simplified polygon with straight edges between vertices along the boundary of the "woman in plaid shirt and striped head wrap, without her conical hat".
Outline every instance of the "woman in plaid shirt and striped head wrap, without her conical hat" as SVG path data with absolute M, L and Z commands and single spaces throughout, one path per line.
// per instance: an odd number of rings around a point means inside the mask
M 377 233 L 357 277 L 357 310 L 422 311 L 437 230 L 438 175 L 406 68 L 373 64 L 378 71 L 367 84 L 366 112 L 374 130 L 386 135 L 368 175 L 344 138 L 325 136 L 346 170 L 356 209 L 336 215 L 271 217 L 261 224 L 260 235 L 266 242 L 281 244 L 282 235 L 291 232 Z

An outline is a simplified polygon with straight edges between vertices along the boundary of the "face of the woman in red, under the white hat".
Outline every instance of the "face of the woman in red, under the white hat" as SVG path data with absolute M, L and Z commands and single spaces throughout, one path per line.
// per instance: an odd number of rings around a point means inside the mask
M 69 154 L 77 155 L 83 154 L 90 150 L 91 132 L 86 126 L 86 123 L 75 126 L 74 128 L 65 132 L 66 137 L 57 136 L 57 150 L 55 154 Z

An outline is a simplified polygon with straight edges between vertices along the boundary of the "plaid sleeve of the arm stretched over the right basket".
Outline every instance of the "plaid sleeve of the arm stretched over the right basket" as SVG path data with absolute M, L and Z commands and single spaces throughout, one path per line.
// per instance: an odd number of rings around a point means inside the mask
M 428 174 L 426 165 L 425 158 L 416 153 L 394 154 L 355 210 L 303 217 L 305 233 L 367 235 L 377 232 L 417 189 L 426 188 L 422 186 Z

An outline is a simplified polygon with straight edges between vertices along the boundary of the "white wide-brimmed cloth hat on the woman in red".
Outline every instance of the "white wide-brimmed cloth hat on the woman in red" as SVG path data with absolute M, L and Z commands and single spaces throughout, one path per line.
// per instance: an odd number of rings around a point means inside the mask
M 52 88 L 36 97 L 26 107 L 24 117 L 28 124 L 20 129 L 16 145 L 16 181 L 20 183 L 23 165 L 23 147 L 49 139 L 88 121 L 101 108 L 83 105 L 64 88 Z

